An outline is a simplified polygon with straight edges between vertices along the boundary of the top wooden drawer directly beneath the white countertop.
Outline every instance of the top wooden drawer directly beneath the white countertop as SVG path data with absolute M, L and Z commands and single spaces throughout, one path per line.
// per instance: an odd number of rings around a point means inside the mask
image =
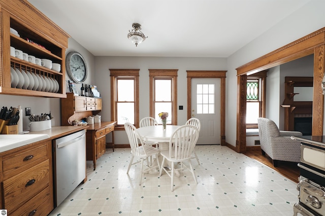
M 14 151 L 3 156 L 3 179 L 6 180 L 16 174 L 19 174 L 30 167 L 33 167 L 45 160 L 49 159 L 47 145 L 51 145 L 50 141 L 42 143 L 41 146 L 33 146 L 26 148 L 26 151 Z

